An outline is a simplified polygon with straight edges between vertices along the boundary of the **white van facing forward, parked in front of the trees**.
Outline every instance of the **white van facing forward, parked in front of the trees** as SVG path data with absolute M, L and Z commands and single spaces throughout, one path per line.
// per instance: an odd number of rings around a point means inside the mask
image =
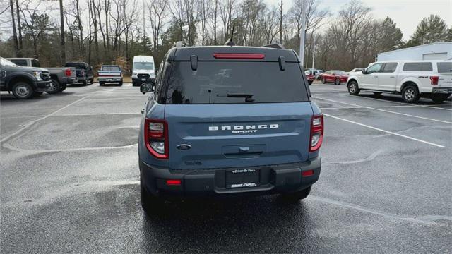
M 150 80 L 155 80 L 155 64 L 153 56 L 133 56 L 133 86 L 150 82 Z

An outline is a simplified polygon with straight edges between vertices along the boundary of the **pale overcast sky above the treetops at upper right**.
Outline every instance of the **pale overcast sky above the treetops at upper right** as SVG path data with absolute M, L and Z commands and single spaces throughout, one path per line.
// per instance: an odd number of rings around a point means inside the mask
M 280 0 L 265 0 L 268 4 L 277 6 Z M 337 14 L 338 10 L 350 0 L 319 0 L 322 8 L 330 8 Z M 422 18 L 430 14 L 438 14 L 446 21 L 448 27 L 452 25 L 452 0 L 361 0 L 372 8 L 375 18 L 389 16 L 397 23 L 403 32 L 403 39 L 408 40 L 415 31 Z M 290 8 L 292 0 L 284 0 L 286 10 Z

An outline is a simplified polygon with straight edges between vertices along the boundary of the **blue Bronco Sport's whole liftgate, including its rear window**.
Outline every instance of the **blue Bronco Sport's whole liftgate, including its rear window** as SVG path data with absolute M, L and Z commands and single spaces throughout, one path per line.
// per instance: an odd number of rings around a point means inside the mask
M 171 169 L 304 162 L 312 109 L 298 63 L 172 63 L 165 120 Z

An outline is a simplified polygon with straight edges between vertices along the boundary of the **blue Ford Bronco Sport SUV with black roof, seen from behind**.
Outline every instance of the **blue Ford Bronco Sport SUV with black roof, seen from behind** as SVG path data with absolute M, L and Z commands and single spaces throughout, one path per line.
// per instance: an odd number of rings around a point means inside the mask
M 143 111 L 141 202 L 172 195 L 280 193 L 298 202 L 319 179 L 323 116 L 293 50 L 174 47 Z

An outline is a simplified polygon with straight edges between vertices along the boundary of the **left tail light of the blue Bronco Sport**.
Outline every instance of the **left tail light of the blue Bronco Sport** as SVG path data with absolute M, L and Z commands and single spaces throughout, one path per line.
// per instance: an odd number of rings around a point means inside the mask
M 168 123 L 165 120 L 145 119 L 144 139 L 151 155 L 168 159 Z

